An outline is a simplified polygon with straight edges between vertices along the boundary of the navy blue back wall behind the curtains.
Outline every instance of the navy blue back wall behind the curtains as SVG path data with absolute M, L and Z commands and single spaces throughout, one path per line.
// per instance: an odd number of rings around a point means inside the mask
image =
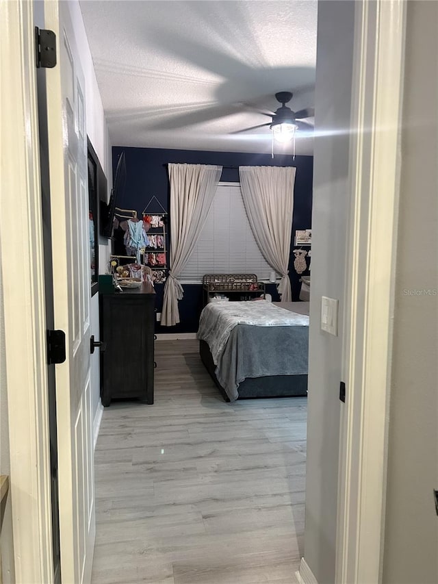
M 114 147 L 112 149 L 113 169 L 116 168 L 118 156 L 125 152 L 127 181 L 123 197 L 116 201 L 118 207 L 135 209 L 139 216 L 153 195 L 168 211 L 169 181 L 166 164 L 179 162 L 185 164 L 218 164 L 220 166 L 296 166 L 294 190 L 294 221 L 293 234 L 296 229 L 311 227 L 313 157 L 290 155 L 251 154 L 236 152 L 205 152 L 193 150 L 166 150 L 153 148 Z M 224 168 L 222 181 L 238 182 L 238 168 Z M 149 208 L 151 213 L 159 212 Z M 168 245 L 167 245 L 168 249 Z M 294 255 L 291 253 L 289 262 L 289 277 L 292 285 L 292 300 L 298 300 L 300 292 L 300 276 L 294 270 Z M 164 285 L 156 284 L 157 309 L 161 312 Z M 198 329 L 199 314 L 202 309 L 202 286 L 183 285 L 184 297 L 179 301 L 181 322 L 176 327 L 160 327 L 157 332 L 194 332 Z M 268 285 L 266 291 L 272 294 L 273 300 L 279 300 L 275 285 Z

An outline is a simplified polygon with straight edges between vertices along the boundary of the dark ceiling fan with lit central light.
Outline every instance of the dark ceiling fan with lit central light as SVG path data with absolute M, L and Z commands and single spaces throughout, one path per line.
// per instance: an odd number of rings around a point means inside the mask
M 286 103 L 289 103 L 292 99 L 292 95 L 293 94 L 290 91 L 280 91 L 276 93 L 275 98 L 281 103 L 281 107 L 278 107 L 275 112 L 259 112 L 264 116 L 272 118 L 270 122 L 237 130 L 232 132 L 232 134 L 241 134 L 242 132 L 269 126 L 272 130 L 272 139 L 275 138 L 278 142 L 289 142 L 289 140 L 295 138 L 295 132 L 297 130 L 313 131 L 313 126 L 311 124 L 302 121 L 305 118 L 313 117 L 313 108 L 307 107 L 304 110 L 293 112 L 290 107 L 287 107 L 286 105 Z

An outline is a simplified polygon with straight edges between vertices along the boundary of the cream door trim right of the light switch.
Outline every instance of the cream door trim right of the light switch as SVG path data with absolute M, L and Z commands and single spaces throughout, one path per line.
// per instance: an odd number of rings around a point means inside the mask
M 335 576 L 342 584 L 381 582 L 404 22 L 404 0 L 356 3 Z

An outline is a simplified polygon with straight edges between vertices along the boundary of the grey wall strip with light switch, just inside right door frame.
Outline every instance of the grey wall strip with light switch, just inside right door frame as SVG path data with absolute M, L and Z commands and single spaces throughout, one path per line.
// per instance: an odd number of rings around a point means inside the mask
M 318 3 L 315 129 L 350 123 L 354 2 Z M 348 212 L 348 134 L 315 138 L 305 561 L 320 584 L 335 579 L 339 382 L 342 337 L 320 330 L 321 296 L 339 299 L 342 313 Z M 342 331 L 342 320 L 339 320 Z

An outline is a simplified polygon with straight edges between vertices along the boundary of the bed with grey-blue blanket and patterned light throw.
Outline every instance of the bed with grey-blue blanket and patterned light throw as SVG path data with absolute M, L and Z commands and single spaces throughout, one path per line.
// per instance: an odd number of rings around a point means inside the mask
M 201 360 L 227 401 L 307 395 L 309 303 L 208 304 Z

